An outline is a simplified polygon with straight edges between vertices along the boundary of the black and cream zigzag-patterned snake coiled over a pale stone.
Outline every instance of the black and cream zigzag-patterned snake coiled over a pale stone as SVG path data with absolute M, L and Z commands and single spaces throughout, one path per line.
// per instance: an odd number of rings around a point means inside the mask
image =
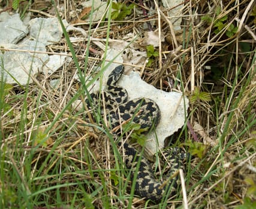
M 86 103 L 88 106 L 100 105 L 101 109 L 104 106 L 107 110 L 107 121 L 110 122 L 112 128 L 120 127 L 125 121 L 132 120 L 132 123 L 139 124 L 141 130 L 147 133 L 158 125 L 161 118 L 160 109 L 152 99 L 141 97 L 128 100 L 127 90 L 117 85 L 123 74 L 123 65 L 115 67 L 107 78 L 107 89 L 90 94 L 91 99 L 86 99 Z M 118 135 L 117 131 L 114 134 Z M 176 193 L 179 183 L 178 175 L 171 179 L 170 177 L 179 168 L 183 168 L 183 160 L 186 158 L 186 153 L 183 150 L 174 147 L 162 152 L 171 167 L 166 174 L 170 180 L 166 182 L 155 179 L 147 158 L 132 145 L 127 142 L 118 142 L 118 146 L 123 149 L 124 165 L 131 172 L 132 182 L 135 181 L 134 193 L 136 195 L 159 202 L 167 194 L 172 196 Z

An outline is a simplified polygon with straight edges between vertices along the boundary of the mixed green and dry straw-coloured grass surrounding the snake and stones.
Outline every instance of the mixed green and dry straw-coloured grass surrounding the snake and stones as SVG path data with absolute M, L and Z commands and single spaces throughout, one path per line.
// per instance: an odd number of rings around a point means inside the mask
M 84 48 L 83 42 L 71 43 L 69 37 L 80 34 L 64 30 L 65 39 L 54 44 L 54 52 L 67 51 L 73 57 L 69 66 L 38 75 L 34 84 L 23 87 L 0 83 L 0 208 L 255 208 L 255 5 L 248 0 L 188 2 L 182 10 L 182 33 L 170 32 L 165 13 L 147 19 L 136 10 L 125 22 L 112 21 L 106 13 L 106 21 L 82 24 L 88 37 L 106 45 L 104 50 L 90 38 Z M 137 70 L 157 88 L 182 92 L 191 100 L 186 124 L 167 142 L 191 154 L 185 188 L 159 204 L 134 195 L 131 174 L 111 130 L 100 125 L 104 118 L 99 110 L 83 105 L 77 110 L 74 105 L 103 75 L 109 40 L 130 33 L 138 35 L 135 42 L 140 40 L 143 22 L 157 19 L 156 14 L 165 42 L 154 50 L 162 59 L 155 57 L 150 67 Z M 182 50 L 174 54 L 171 50 L 179 45 Z M 95 66 L 101 66 L 96 74 Z M 74 80 L 76 71 L 79 81 Z M 55 78 L 60 79 L 58 88 L 49 85 Z

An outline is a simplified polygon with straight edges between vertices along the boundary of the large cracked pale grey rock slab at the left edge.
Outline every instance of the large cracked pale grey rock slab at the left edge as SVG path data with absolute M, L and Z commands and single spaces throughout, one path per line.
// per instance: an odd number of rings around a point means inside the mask
M 20 42 L 20 38 L 26 35 L 28 29 L 19 19 L 19 15 L 9 16 L 7 13 L 2 13 L 0 20 L 2 20 L 0 28 L 2 27 L 1 30 L 3 31 L 0 33 L 0 45 L 6 49 L 11 49 L 11 51 L 0 54 L 0 78 L 4 78 L 5 82 L 19 83 L 20 85 L 31 84 L 33 82 L 31 76 L 42 71 L 44 73 L 55 72 L 65 62 L 71 60 L 67 56 L 58 54 L 48 56 L 46 53 L 47 44 L 59 42 L 62 38 L 62 28 L 58 19 L 37 18 L 29 21 L 29 35 L 36 41 L 24 39 Z M 16 21 L 16 24 L 13 24 L 13 21 Z M 67 21 L 64 20 L 63 22 L 68 30 L 76 30 L 74 27 L 69 27 Z M 16 32 L 20 33 L 16 34 Z M 79 32 L 86 35 L 82 30 Z M 9 42 L 16 44 L 8 44 Z

